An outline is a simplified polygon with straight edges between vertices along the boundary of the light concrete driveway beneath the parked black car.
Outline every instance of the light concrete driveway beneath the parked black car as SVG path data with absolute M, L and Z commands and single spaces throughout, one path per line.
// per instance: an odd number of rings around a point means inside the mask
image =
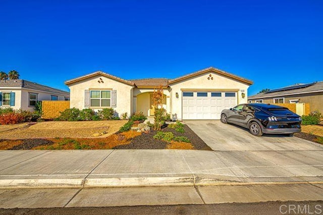
M 248 129 L 224 124 L 220 120 L 190 120 L 185 123 L 214 151 L 311 150 L 323 155 L 322 145 L 298 137 L 270 134 L 256 137 Z

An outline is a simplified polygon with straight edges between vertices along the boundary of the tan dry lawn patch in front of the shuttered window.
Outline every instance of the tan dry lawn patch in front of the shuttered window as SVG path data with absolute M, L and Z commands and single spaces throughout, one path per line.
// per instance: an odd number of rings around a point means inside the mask
M 94 133 L 106 132 L 102 137 L 110 136 L 122 127 L 126 120 L 88 121 L 88 122 L 39 122 L 30 127 L 0 132 L 0 139 L 28 138 L 90 138 Z M 3 128 L 3 126 L 1 126 Z M 9 126 L 5 126 L 8 127 Z M 3 128 L 5 129 L 5 128 Z

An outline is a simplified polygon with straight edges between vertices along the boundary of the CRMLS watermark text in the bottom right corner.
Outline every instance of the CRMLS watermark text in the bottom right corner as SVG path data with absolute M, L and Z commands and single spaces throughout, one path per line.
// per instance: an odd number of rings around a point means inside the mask
M 279 212 L 282 214 L 322 214 L 323 206 L 320 204 L 282 204 Z

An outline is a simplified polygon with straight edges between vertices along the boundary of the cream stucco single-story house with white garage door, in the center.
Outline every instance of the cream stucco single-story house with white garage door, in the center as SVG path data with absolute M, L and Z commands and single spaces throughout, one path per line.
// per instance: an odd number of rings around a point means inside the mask
M 216 68 L 179 78 L 124 80 L 98 71 L 65 82 L 70 108 L 113 108 L 120 115 L 143 112 L 154 115 L 153 91 L 164 88 L 164 108 L 177 119 L 220 119 L 223 109 L 247 102 L 252 81 Z

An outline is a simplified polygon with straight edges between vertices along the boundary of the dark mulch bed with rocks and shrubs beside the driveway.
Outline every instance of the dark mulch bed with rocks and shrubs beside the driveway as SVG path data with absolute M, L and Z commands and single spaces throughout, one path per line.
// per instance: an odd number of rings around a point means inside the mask
M 184 125 L 185 133 L 180 133 L 175 131 L 173 128 L 165 127 L 161 129 L 163 132 L 173 132 L 175 136 L 185 136 L 194 146 L 194 149 L 198 150 L 212 150 L 204 141 L 199 138 L 187 125 Z M 153 136 L 157 131 L 151 130 L 149 133 L 143 133 L 138 137 L 134 137 L 130 144 L 127 145 L 118 145 L 114 149 L 165 149 L 167 142 L 162 140 L 153 139 Z

